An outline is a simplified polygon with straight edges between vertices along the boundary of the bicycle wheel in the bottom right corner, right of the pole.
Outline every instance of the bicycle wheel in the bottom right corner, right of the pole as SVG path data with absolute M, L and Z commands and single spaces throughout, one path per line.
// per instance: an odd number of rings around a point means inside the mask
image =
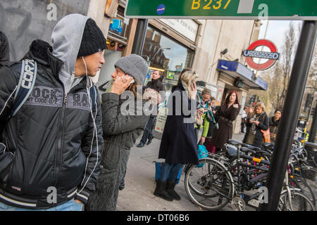
M 315 207 L 302 192 L 292 190 L 290 196 L 287 191 L 280 195 L 278 211 L 315 211 Z

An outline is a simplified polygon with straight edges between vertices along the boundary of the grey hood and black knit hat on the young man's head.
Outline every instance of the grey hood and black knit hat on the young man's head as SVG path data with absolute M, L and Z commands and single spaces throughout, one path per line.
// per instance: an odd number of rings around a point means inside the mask
M 106 39 L 99 27 L 92 18 L 80 14 L 70 14 L 58 21 L 51 34 L 53 43 L 53 56 L 63 61 L 63 66 L 58 74 L 59 79 L 63 82 L 66 93 L 77 85 L 81 77 L 75 77 L 76 60 L 80 57 L 84 71 L 86 62 L 82 57 L 87 58 L 94 53 L 102 55 L 106 49 Z M 101 56 L 103 58 L 103 56 Z M 98 67 L 98 66 L 97 66 Z M 79 68 L 76 68 L 78 70 Z M 88 70 L 89 72 L 89 70 Z M 96 75 L 96 71 L 88 75 Z M 81 75 L 85 75 L 83 72 Z

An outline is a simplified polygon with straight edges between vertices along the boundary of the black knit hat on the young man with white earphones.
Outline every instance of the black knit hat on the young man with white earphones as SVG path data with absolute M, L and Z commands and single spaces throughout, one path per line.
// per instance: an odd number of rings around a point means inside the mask
M 89 18 L 85 25 L 84 34 L 82 34 L 82 43 L 78 51 L 78 56 L 89 56 L 107 48 L 106 39 L 102 34 L 96 22 Z

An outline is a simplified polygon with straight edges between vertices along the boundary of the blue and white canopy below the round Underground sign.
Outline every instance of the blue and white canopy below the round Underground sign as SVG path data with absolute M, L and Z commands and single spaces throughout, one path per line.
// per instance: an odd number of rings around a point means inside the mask
M 254 73 L 239 62 L 218 60 L 217 70 L 235 79 L 239 78 L 244 84 L 247 84 L 250 89 L 261 89 L 265 91 L 268 89 L 268 83 L 266 83 L 265 80 L 260 77 L 255 79 Z

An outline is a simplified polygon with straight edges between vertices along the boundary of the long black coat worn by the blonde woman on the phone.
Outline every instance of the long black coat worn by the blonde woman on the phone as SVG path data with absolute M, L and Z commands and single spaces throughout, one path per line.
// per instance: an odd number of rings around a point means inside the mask
M 173 86 L 172 95 L 168 99 L 168 116 L 163 130 L 159 158 L 165 159 L 168 164 L 198 164 L 198 147 L 194 131 L 194 113 L 197 110 L 197 101 L 182 96 L 185 91 L 182 82 Z M 180 98 L 179 98 L 180 96 Z M 186 104 L 187 105 L 183 105 Z M 192 105 L 194 109 L 191 110 Z M 188 112 L 185 112 L 185 108 Z M 191 121 L 185 120 L 192 118 Z

